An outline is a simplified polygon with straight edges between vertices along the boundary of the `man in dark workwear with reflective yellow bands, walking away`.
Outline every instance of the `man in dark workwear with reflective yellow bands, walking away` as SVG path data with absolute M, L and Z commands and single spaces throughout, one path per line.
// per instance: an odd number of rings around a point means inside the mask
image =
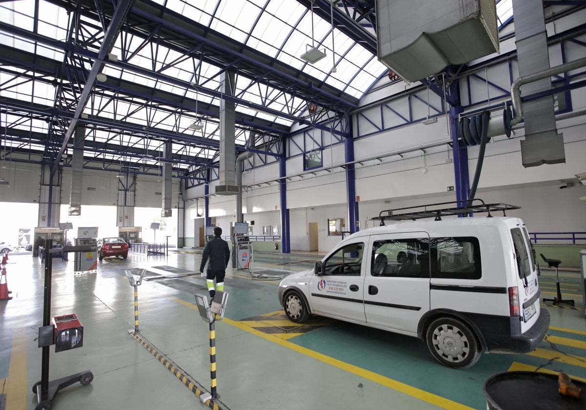
M 213 299 L 216 295 L 216 289 L 220 292 L 224 291 L 224 276 L 226 276 L 226 267 L 230 261 L 230 248 L 228 242 L 222 239 L 222 228 L 220 227 L 214 228 L 214 238 L 208 241 L 206 247 L 203 248 L 202 264 L 199 267 L 199 272 L 202 274 L 208 258 L 210 263 L 207 265 L 206 283 L 210 298 Z M 216 279 L 215 288 L 214 279 Z

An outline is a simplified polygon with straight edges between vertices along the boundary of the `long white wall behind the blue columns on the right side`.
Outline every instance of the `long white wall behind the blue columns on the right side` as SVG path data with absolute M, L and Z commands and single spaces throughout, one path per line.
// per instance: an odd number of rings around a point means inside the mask
M 551 35 L 583 23 L 586 11 L 579 11 L 555 23 L 547 25 Z M 507 28 L 507 30 L 510 30 Z M 586 42 L 586 35 L 577 37 Z M 584 46 L 566 43 L 567 61 L 584 57 Z M 502 42 L 502 52 L 515 49 L 515 38 Z M 560 44 L 550 46 L 551 65 L 561 63 Z M 472 64 L 487 60 L 492 56 L 476 60 Z M 515 76 L 516 61 L 512 62 Z M 583 69 L 582 69 L 583 70 Z M 573 71 L 577 73 L 578 71 Z M 466 77 L 460 81 L 462 104 L 474 104 L 481 109 L 481 101 L 490 98 L 491 104 L 510 100 L 503 90 L 510 88 L 508 62 L 503 61 L 486 70 L 478 72 L 486 81 Z M 572 81 L 583 80 L 584 76 Z M 418 87 L 417 99 L 398 95 Z M 502 88 L 502 90 L 499 90 Z M 586 93 L 584 88 L 571 91 L 574 115 L 557 116 L 558 132 L 563 133 L 565 163 L 523 168 L 520 142 L 524 138 L 523 124 L 515 129 L 511 138 L 505 135 L 493 138 L 486 146 L 486 153 L 479 180 L 476 197 L 487 202 L 503 202 L 521 206 L 512 214 L 520 216 L 531 231 L 586 231 L 586 203 L 580 197 L 586 196 L 586 186 L 578 184 L 576 173 L 586 172 Z M 468 93 L 471 93 L 471 98 Z M 418 83 L 404 84 L 399 81 L 389 84 L 382 78 L 372 93 L 366 94 L 361 104 L 367 105 L 384 100 L 384 106 L 367 107 L 355 115 L 353 124 L 361 138 L 354 141 L 356 196 L 359 200 L 359 221 L 361 228 L 378 224 L 370 220 L 381 210 L 455 200 L 455 193 L 448 187 L 455 186 L 453 154 L 448 142 L 448 122 L 445 115 L 439 115 L 435 124 L 423 125 L 415 122 L 403 125 L 407 119 L 415 121 L 427 117 L 427 101 L 432 107 L 444 110 L 440 97 L 421 87 Z M 423 101 L 422 101 L 423 100 Z M 381 117 L 381 114 L 382 117 Z M 433 108 L 431 115 L 438 114 Z M 403 117 L 403 118 L 401 118 Z M 389 129 L 390 127 L 396 127 Z M 384 128 L 387 131 L 380 132 Z M 295 131 L 300 129 L 294 125 Z M 368 135 L 368 136 L 363 136 Z M 319 145 L 314 139 L 323 142 L 323 168 L 314 172 L 304 172 L 303 155 Z M 319 250 L 331 249 L 340 237 L 329 237 L 328 218 L 347 218 L 346 173 L 340 165 L 345 163 L 344 144 L 319 129 L 305 130 L 292 136 L 288 145 L 286 163 L 287 207 L 291 221 L 291 250 L 309 250 L 308 224 L 318 223 Z M 333 141 L 333 145 L 331 145 Z M 478 162 L 479 147 L 468 148 L 469 179 L 472 179 Z M 250 186 L 243 193 L 244 220 L 254 220 L 254 234 L 261 234 L 263 225 L 280 224 L 280 196 L 278 184 L 278 163 L 269 165 L 255 164 L 257 168 L 244 173 L 243 184 Z M 424 172 L 424 168 L 427 172 Z M 212 182 L 210 192 L 214 192 Z M 267 184 L 268 183 L 268 184 Z M 573 183 L 573 186 L 560 189 Z M 190 189 L 186 196 L 203 196 L 203 186 Z M 191 205 L 193 206 L 193 204 Z M 200 201 L 202 207 L 202 201 Z M 236 206 L 234 197 L 210 197 L 210 213 L 217 217 L 223 229 L 229 228 L 235 220 Z

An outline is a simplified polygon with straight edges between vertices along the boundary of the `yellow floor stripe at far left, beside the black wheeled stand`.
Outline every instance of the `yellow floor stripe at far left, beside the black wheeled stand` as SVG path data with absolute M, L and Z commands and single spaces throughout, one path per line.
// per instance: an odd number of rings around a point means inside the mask
M 12 334 L 10 365 L 4 392 L 6 410 L 22 410 L 28 402 L 26 389 L 26 326 L 15 326 Z

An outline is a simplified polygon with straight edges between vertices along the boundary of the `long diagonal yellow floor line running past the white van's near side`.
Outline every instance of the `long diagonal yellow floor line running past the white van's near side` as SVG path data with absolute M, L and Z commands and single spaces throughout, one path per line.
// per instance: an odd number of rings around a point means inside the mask
M 189 308 L 197 309 L 197 306 L 193 305 L 193 303 L 185 302 L 185 300 L 175 298 L 175 296 L 169 296 L 169 298 L 175 299 L 176 302 L 179 302 L 182 305 L 188 306 Z M 298 353 L 305 354 L 305 356 L 315 358 L 316 360 L 322 361 L 323 363 L 330 364 L 332 366 L 335 366 L 335 367 L 338 367 L 342 370 L 345 370 L 349 373 L 356 374 L 360 377 L 364 377 L 368 380 L 374 381 L 374 382 L 379 383 L 383 386 L 386 386 L 386 387 L 389 387 L 389 388 L 394 389 L 396 391 L 399 391 L 401 393 L 410 395 L 411 397 L 415 397 L 417 399 L 426 401 L 432 405 L 435 405 L 435 406 L 438 406 L 438 407 L 441 407 L 444 409 L 451 409 L 451 410 L 472 409 L 471 407 L 465 406 L 465 405 L 460 404 L 455 401 L 451 401 L 447 398 L 444 398 L 444 397 L 441 397 L 441 396 L 438 396 L 435 394 L 431 394 L 430 392 L 427 392 L 425 390 L 418 389 L 416 387 L 410 386 L 410 385 L 402 383 L 400 381 L 381 376 L 380 374 L 374 373 L 373 371 L 365 370 L 363 368 L 360 368 L 358 366 L 355 366 L 355 365 L 352 365 L 349 363 L 345 363 L 345 362 L 338 360 L 338 359 L 335 359 L 333 357 L 326 356 L 325 354 L 318 353 L 318 352 L 313 351 L 311 349 L 307 349 L 306 347 L 298 346 L 295 343 L 291 343 L 290 341 L 283 340 L 280 337 L 276 337 L 272 334 L 266 334 L 266 333 L 260 332 L 260 330 L 253 329 L 252 327 L 247 326 L 246 324 L 242 324 L 240 322 L 237 322 L 236 320 L 231 320 L 231 319 L 228 319 L 227 317 L 224 317 L 223 322 L 227 323 L 227 324 L 231 324 L 232 326 L 238 327 L 239 329 L 244 330 L 245 332 L 254 334 L 255 336 L 262 337 L 265 340 L 272 341 L 273 343 L 277 343 L 283 347 L 287 347 L 288 349 L 297 351 Z

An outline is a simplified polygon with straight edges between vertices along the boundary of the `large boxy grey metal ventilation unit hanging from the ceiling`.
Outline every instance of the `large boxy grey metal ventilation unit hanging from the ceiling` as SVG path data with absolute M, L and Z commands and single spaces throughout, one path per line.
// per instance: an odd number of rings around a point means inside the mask
M 377 55 L 407 81 L 499 52 L 495 0 L 376 0 Z

